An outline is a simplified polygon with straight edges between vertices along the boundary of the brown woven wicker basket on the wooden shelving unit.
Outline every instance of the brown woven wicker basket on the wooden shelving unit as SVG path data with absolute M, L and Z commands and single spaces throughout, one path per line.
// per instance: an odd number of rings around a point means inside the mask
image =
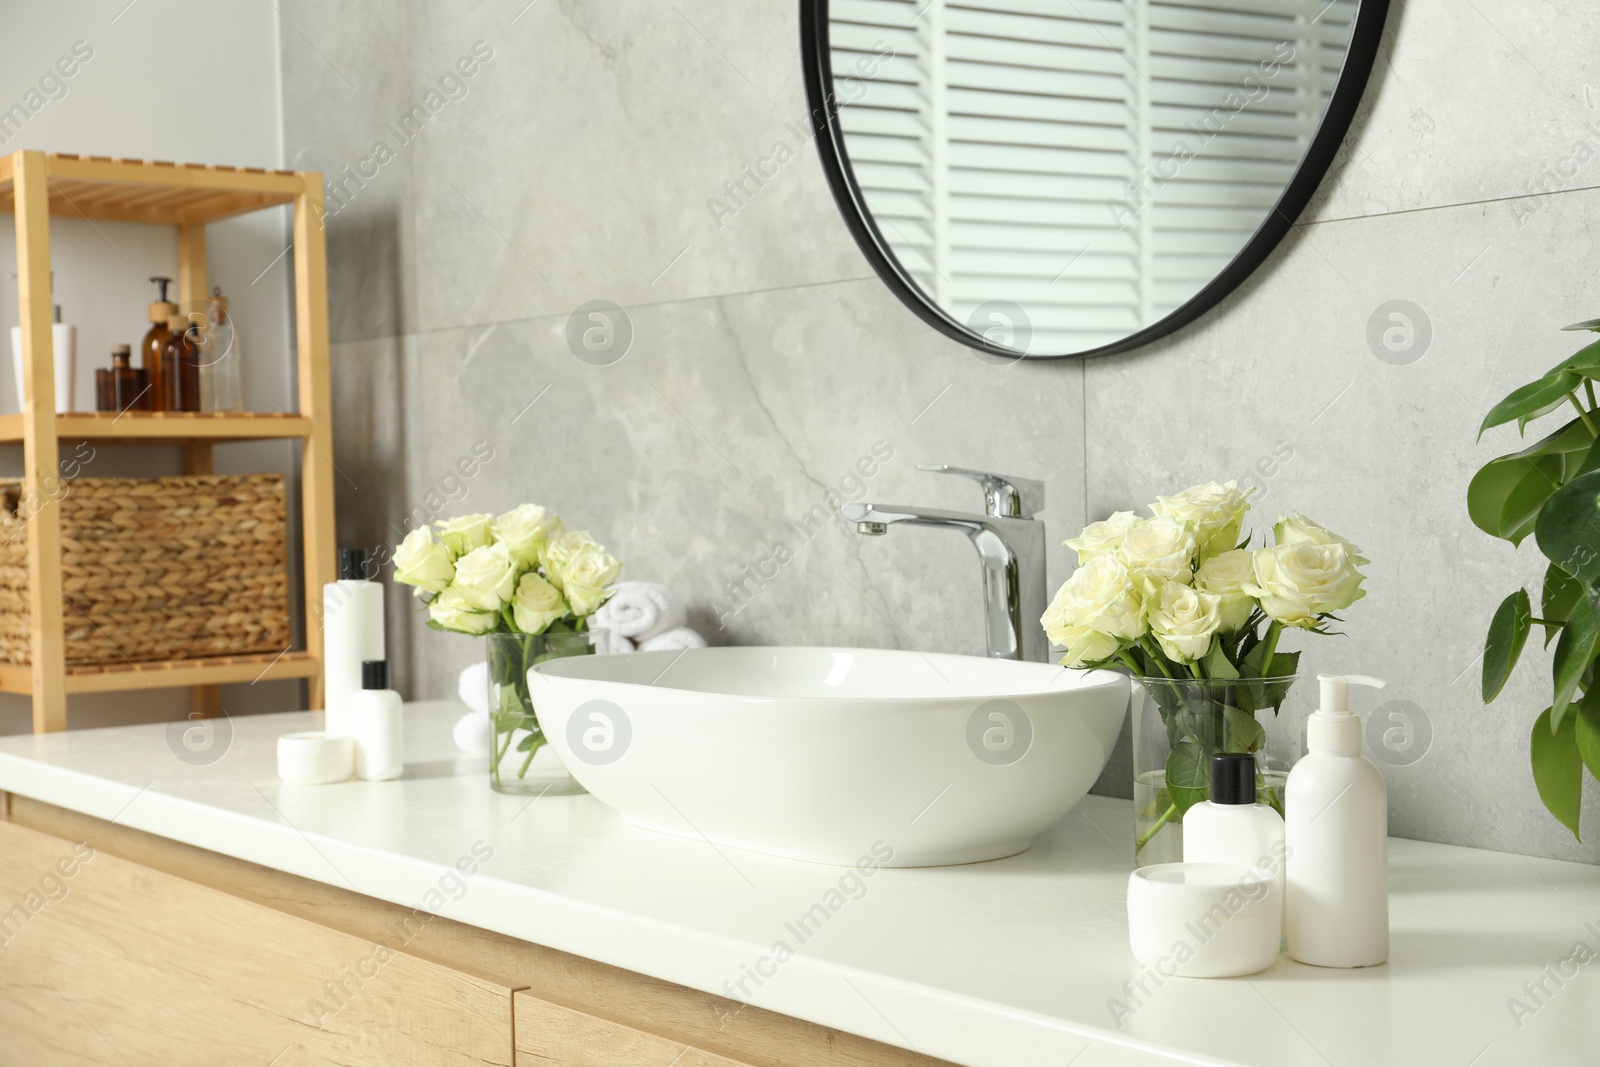
M 67 664 L 290 645 L 283 475 L 74 478 L 61 509 Z M 29 662 L 27 522 L 0 482 L 0 661 Z

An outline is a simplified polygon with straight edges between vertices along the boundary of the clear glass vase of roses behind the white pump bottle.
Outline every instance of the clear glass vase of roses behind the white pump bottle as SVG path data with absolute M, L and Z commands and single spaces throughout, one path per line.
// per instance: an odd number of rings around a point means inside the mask
M 1283 814 L 1288 768 L 1267 758 L 1294 675 L 1275 678 L 1133 678 L 1134 865 L 1184 857 L 1184 811 L 1211 797 L 1211 755 L 1256 757 L 1256 803 Z

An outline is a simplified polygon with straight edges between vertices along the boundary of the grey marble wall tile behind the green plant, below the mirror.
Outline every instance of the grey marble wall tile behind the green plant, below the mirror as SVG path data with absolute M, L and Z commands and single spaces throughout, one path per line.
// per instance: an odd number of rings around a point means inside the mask
M 1600 248 L 1584 224 L 1597 206 L 1600 192 L 1574 192 L 1522 226 L 1490 203 L 1302 227 L 1194 328 L 1086 368 L 1091 518 L 1155 486 L 1254 472 L 1262 525 L 1302 510 L 1371 557 L 1349 637 L 1299 641 L 1302 673 L 1387 677 L 1363 712 L 1421 709 L 1432 747 L 1386 768 L 1405 837 L 1600 859 L 1546 814 L 1528 769 L 1549 656 L 1530 646 L 1499 701 L 1480 701 L 1490 614 L 1518 582 L 1538 589 L 1542 565 L 1466 514 L 1472 474 L 1520 446 L 1509 427 L 1475 443 L 1483 414 L 1582 344 L 1562 325 L 1597 314 Z M 1390 312 L 1410 317 L 1410 347 L 1403 333 L 1382 344 L 1403 328 Z

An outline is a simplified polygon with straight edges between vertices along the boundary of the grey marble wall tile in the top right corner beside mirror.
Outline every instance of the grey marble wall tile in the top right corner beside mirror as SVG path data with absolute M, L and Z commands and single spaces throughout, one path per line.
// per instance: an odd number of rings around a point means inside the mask
M 1584 0 L 1394 0 L 1355 138 L 1306 218 L 1600 186 L 1597 34 Z

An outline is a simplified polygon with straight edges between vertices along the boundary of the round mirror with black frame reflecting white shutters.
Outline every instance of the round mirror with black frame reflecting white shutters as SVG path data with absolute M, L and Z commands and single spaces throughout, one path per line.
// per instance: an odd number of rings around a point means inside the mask
M 1387 0 L 802 0 L 822 166 L 885 283 L 989 358 L 1125 352 L 1310 198 Z

